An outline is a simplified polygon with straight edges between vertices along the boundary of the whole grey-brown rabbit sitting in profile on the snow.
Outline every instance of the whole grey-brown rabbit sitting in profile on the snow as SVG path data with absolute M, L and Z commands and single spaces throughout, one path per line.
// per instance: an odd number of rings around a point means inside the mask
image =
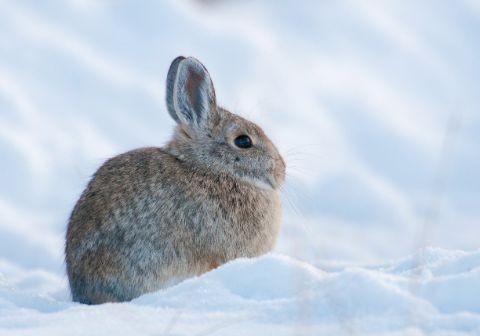
M 172 139 L 107 160 L 70 215 L 74 301 L 129 301 L 274 247 L 286 166 L 272 141 L 217 106 L 195 58 L 172 62 L 166 105 Z

